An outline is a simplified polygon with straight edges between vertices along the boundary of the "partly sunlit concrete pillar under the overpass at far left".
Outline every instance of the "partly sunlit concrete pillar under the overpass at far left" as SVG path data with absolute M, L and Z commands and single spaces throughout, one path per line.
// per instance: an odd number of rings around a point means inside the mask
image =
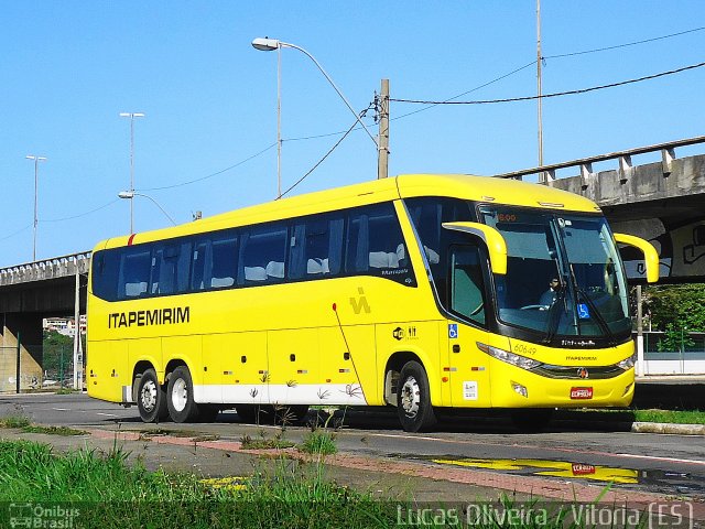
M 43 381 L 42 315 L 3 313 L 0 341 L 0 392 L 17 389 L 18 335 L 20 336 L 20 389 L 41 388 Z

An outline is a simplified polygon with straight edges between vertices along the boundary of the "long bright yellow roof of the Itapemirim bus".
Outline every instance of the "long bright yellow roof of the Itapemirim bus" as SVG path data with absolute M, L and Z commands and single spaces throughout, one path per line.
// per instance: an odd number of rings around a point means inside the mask
M 281 198 L 134 236 L 113 237 L 99 242 L 96 250 L 417 196 L 447 196 L 566 212 L 600 210 L 583 196 L 517 180 L 467 174 L 405 174 Z

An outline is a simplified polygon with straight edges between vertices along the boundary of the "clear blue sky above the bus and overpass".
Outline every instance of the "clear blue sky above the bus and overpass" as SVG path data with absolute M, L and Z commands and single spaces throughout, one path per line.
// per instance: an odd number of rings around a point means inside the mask
M 702 0 L 542 0 L 541 22 L 544 94 L 705 61 Z M 130 187 L 130 119 L 120 112 L 145 115 L 133 123 L 135 231 L 275 198 L 276 52 L 254 50 L 258 36 L 306 50 L 356 111 L 382 78 L 397 99 L 536 94 L 535 0 L 0 0 L 0 267 L 32 260 L 28 154 L 47 158 L 39 164 L 37 259 L 130 231 L 130 201 L 118 198 Z M 281 67 L 286 190 L 355 117 L 305 54 L 282 50 Z M 544 99 L 544 163 L 702 136 L 704 88 L 701 67 Z M 390 175 L 536 166 L 536 114 L 535 100 L 392 101 Z M 373 116 L 365 122 L 375 134 Z M 355 130 L 290 195 L 376 176 L 376 147 Z

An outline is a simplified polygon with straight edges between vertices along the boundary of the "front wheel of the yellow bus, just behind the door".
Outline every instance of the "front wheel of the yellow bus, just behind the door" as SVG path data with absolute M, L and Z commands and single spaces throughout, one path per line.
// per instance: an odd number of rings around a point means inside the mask
M 436 423 L 431 406 L 431 391 L 426 370 L 417 361 L 404 364 L 397 388 L 397 411 L 405 432 L 424 432 Z

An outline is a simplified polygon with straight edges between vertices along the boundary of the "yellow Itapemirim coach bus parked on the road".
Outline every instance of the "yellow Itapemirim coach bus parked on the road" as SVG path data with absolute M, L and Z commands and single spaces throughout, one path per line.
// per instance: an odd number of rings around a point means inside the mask
M 547 186 L 402 175 L 98 244 L 88 395 L 145 422 L 235 408 L 628 406 L 634 347 L 617 244 Z M 523 410 L 523 413 L 522 413 Z

